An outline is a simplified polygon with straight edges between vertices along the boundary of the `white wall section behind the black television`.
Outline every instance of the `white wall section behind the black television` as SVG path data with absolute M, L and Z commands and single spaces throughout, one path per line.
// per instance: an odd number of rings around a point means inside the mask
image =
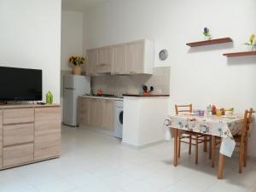
M 60 102 L 61 0 L 0 0 L 0 66 L 43 70 Z

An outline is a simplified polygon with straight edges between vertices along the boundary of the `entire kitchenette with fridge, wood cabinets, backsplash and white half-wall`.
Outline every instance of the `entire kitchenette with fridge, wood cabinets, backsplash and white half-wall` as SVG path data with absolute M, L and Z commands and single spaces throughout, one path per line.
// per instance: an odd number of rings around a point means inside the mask
M 154 42 L 143 39 L 88 49 L 85 67 L 86 77 L 64 76 L 64 124 L 123 138 L 122 143 L 132 148 L 164 141 L 161 126 L 167 113 L 170 67 L 154 67 Z M 73 79 L 82 79 L 78 86 L 84 92 L 68 96 L 68 82 Z M 73 110 L 67 108 L 70 98 L 78 98 Z M 148 120 L 152 116 L 155 119 Z

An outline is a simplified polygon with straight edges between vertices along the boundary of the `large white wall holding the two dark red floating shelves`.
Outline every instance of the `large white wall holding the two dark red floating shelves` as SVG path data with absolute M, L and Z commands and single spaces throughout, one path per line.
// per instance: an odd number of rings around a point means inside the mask
M 85 15 L 89 48 L 148 38 L 156 47 L 169 49 L 171 109 L 174 103 L 192 102 L 195 108 L 234 107 L 236 112 L 256 108 L 255 56 L 227 60 L 224 52 L 246 49 L 256 33 L 255 0 L 112 0 L 89 9 Z M 203 40 L 207 26 L 215 38 L 230 37 L 234 44 L 189 49 L 188 42 Z M 157 55 L 155 55 L 157 56 Z M 250 148 L 256 146 L 256 126 Z M 250 155 L 256 157 L 256 151 Z

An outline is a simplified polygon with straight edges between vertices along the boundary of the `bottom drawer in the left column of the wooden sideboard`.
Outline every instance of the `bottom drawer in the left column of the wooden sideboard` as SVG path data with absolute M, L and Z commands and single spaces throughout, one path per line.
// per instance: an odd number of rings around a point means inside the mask
M 3 148 L 3 167 L 32 162 L 33 149 L 33 143 Z

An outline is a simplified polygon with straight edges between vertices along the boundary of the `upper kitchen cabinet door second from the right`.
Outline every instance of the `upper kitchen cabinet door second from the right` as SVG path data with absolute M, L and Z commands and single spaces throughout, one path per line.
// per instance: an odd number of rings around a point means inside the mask
M 116 45 L 112 48 L 112 65 L 114 74 L 129 73 L 125 67 L 125 45 Z

